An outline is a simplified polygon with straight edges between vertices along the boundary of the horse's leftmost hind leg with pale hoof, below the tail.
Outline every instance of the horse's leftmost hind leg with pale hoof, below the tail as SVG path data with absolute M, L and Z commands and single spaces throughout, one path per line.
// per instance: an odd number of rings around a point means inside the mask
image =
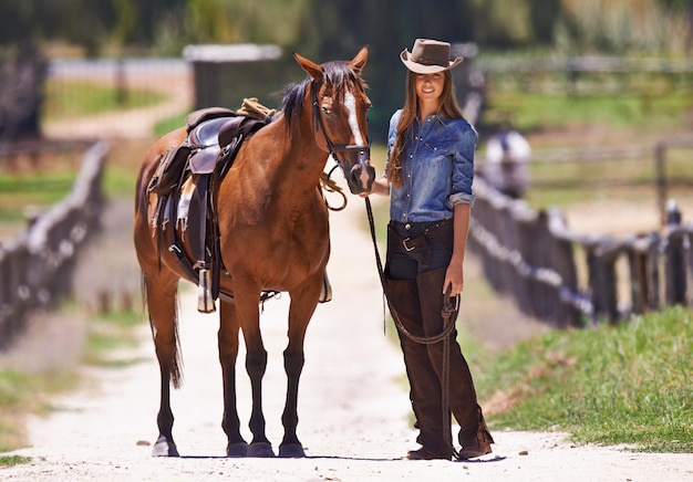
M 175 276 L 144 279 L 152 337 L 161 373 L 161 402 L 156 417 L 159 434 L 152 451 L 154 457 L 178 457 L 172 433 L 174 416 L 170 410 L 170 385 L 178 387 L 182 380 L 176 314 L 177 284 L 178 279 Z

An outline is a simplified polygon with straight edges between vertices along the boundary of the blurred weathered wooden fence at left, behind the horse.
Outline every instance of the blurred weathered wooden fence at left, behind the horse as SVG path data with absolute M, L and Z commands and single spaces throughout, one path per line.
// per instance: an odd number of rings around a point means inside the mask
M 0 242 L 0 348 L 22 331 L 30 310 L 70 294 L 75 254 L 97 228 L 107 150 L 105 143 L 94 144 L 82 159 L 72 191 L 20 235 Z

